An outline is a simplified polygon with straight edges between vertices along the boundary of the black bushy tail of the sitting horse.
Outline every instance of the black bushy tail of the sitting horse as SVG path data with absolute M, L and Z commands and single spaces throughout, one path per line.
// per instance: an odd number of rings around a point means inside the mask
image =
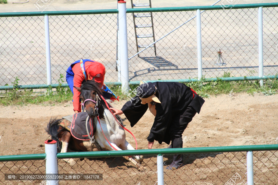
M 62 143 L 58 138 L 58 134 L 61 132 L 62 129 L 59 130 L 60 123 L 63 119 L 56 119 L 55 118 L 50 118 L 50 121 L 48 122 L 45 131 L 47 134 L 51 135 L 51 139 L 57 142 L 57 152 L 60 153 L 62 149 Z M 59 130 L 59 131 L 58 131 Z

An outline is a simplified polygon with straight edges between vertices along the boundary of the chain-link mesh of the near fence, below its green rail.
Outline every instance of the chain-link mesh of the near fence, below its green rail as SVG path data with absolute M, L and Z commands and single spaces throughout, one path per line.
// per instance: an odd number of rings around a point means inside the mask
M 253 152 L 254 184 L 278 183 L 278 152 Z M 166 170 L 172 155 L 164 155 L 164 182 L 167 185 L 244 185 L 247 183 L 246 152 L 184 154 L 184 165 L 177 170 Z M 157 158 L 144 156 L 145 171 L 138 171 L 131 162 L 122 157 L 75 159 L 70 166 L 58 160 L 59 174 L 103 174 L 103 180 L 61 180 L 59 184 L 157 184 Z M 45 174 L 45 162 L 13 161 L 0 162 L 0 184 L 45 184 L 42 180 L 5 180 L 5 174 Z

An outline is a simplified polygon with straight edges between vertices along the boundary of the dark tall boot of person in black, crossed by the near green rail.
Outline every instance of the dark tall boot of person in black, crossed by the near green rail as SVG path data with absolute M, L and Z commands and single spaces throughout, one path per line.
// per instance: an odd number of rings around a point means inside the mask
M 183 147 L 183 140 L 182 138 L 175 138 L 173 141 L 173 148 L 182 148 Z M 178 169 L 183 165 L 183 154 L 175 154 L 173 156 L 173 162 L 166 167 L 167 170 L 174 170 Z

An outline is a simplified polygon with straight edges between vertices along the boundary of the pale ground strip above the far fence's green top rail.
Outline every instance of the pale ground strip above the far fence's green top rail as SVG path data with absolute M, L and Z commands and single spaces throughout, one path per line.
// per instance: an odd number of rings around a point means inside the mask
M 47 6 L 45 11 L 65 11 L 65 10 L 102 10 L 102 9 L 116 9 L 116 0 L 29 0 L 27 3 L 13 3 L 26 2 L 26 0 L 7 0 L 7 4 L 0 4 L 1 12 L 33 12 L 42 11 Z M 131 1 L 126 1 L 127 8 L 131 8 Z M 133 3 L 145 3 L 149 0 L 133 0 Z M 210 6 L 217 2 L 216 0 L 197 0 L 197 1 L 180 1 L 180 0 L 152 0 L 152 7 L 181 7 L 181 6 Z M 269 3 L 276 2 L 275 0 L 222 0 L 216 5 L 236 4 L 253 4 L 253 3 Z M 38 7 L 42 7 L 40 10 Z M 45 6 L 44 6 L 45 5 Z M 43 7 L 44 6 L 44 7 Z

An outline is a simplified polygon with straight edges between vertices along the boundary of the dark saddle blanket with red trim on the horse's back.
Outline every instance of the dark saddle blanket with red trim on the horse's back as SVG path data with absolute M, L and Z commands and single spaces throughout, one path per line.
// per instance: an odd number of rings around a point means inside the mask
M 86 123 L 86 118 L 88 117 L 88 114 L 86 112 L 81 112 L 81 113 L 75 113 L 74 115 L 71 116 L 72 121 L 70 123 L 70 118 L 69 116 L 63 117 L 65 119 L 60 123 L 60 125 L 67 130 L 70 130 L 71 135 L 79 140 L 90 140 L 87 134 L 86 126 L 88 128 L 88 132 L 90 134 L 90 137 L 93 137 L 93 132 L 94 130 L 94 124 L 93 124 L 93 119 L 89 118 L 87 123 Z M 70 127 L 70 128 L 69 128 Z

